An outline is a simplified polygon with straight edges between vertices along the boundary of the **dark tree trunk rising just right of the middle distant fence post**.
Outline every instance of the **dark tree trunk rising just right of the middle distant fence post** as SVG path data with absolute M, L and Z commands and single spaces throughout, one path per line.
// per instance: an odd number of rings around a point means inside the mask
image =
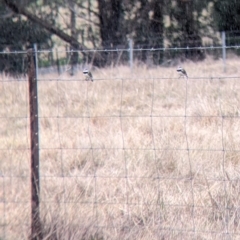
M 126 28 L 136 48 L 161 48 L 164 43 L 164 0 L 124 1 Z M 162 62 L 159 52 L 138 52 L 138 59 L 145 62 L 152 58 L 155 64 Z

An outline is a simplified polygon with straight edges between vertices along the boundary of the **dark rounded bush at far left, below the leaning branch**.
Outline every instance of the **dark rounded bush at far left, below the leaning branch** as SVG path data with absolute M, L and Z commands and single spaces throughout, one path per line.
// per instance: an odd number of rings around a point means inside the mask
M 0 71 L 10 75 L 26 72 L 26 54 L 8 52 L 26 51 L 34 43 L 41 48 L 49 47 L 50 34 L 37 24 L 21 19 L 7 18 L 0 22 Z

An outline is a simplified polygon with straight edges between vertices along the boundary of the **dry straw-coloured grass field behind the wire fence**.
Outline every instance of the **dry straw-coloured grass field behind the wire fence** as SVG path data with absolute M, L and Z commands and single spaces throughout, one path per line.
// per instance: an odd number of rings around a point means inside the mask
M 44 239 L 240 239 L 239 59 L 40 76 Z M 0 80 L 0 239 L 27 239 L 27 81 Z

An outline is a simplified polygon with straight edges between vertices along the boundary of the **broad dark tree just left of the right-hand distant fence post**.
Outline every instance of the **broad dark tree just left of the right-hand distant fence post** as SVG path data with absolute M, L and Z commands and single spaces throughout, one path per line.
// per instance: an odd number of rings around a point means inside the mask
M 170 24 L 165 28 L 166 37 L 170 47 L 189 47 L 196 48 L 203 45 L 202 38 L 208 37 L 215 40 L 211 35 L 213 24 L 209 4 L 212 0 L 177 0 L 168 3 Z M 204 11 L 208 15 L 204 15 Z M 186 50 L 175 52 L 175 57 L 191 60 L 203 60 L 204 52 L 196 50 Z

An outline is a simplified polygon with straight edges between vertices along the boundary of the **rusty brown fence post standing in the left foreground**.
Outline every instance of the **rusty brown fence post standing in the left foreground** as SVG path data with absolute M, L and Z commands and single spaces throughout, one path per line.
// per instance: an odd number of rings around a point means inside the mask
M 34 47 L 36 50 L 36 48 Z M 30 240 L 42 239 L 40 221 L 40 183 L 39 183 L 39 132 L 38 132 L 38 92 L 36 51 L 29 49 L 28 86 L 30 107 L 30 149 L 31 149 L 31 234 Z

